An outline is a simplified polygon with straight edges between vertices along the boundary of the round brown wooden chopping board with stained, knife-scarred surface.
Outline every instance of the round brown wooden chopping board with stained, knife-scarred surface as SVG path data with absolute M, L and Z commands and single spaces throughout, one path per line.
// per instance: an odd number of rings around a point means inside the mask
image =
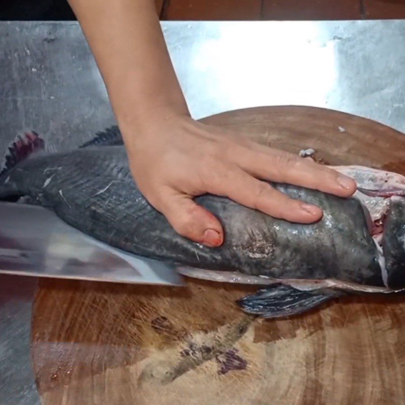
M 231 111 L 205 123 L 330 164 L 405 175 L 405 137 L 310 107 Z M 187 288 L 42 280 L 32 359 L 44 405 L 402 404 L 405 299 L 341 299 L 260 320 L 234 301 L 257 288 L 188 279 Z

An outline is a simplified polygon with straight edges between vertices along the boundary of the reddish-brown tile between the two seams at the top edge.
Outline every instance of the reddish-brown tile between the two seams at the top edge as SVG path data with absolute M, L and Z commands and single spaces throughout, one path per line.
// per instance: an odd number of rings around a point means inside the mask
M 353 20 L 361 18 L 359 0 L 263 0 L 265 20 Z

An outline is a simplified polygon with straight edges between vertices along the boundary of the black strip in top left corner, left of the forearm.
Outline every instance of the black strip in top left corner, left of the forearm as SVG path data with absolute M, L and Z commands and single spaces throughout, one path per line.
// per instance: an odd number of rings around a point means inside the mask
M 0 21 L 75 21 L 66 0 L 3 0 Z

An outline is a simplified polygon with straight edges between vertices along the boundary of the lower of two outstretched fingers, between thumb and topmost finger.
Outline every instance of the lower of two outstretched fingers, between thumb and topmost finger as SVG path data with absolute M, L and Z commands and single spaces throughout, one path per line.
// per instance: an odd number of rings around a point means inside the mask
M 259 210 L 274 218 L 312 223 L 322 217 L 319 207 L 290 198 L 268 183 L 257 180 L 236 167 L 211 178 L 208 188 L 212 194 L 227 196 L 238 204 Z

